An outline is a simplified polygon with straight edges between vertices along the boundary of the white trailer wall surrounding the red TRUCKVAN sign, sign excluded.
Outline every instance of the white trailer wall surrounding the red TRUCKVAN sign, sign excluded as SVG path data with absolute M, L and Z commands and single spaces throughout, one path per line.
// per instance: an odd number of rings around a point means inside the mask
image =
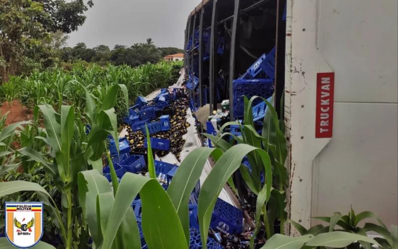
M 397 2 L 288 0 L 289 209 L 304 227 L 351 205 L 398 224 Z M 315 138 L 322 72 L 335 73 L 332 138 Z

